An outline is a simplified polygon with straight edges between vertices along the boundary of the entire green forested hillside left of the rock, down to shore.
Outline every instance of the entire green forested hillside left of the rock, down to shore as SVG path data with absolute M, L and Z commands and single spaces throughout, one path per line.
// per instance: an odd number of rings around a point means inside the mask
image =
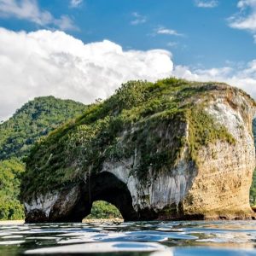
M 38 97 L 0 125 L 0 219 L 24 218 L 19 201 L 20 176 L 25 170 L 22 159 L 32 144 L 83 113 L 85 108 L 71 100 Z

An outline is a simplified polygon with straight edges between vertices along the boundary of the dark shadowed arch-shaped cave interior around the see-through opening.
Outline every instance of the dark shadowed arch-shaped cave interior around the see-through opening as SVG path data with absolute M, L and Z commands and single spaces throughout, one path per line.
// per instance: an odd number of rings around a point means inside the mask
M 125 183 L 110 172 L 92 174 L 90 179 L 81 185 L 81 196 L 67 217 L 80 222 L 90 215 L 92 204 L 106 201 L 116 207 L 125 221 L 137 220 L 137 212 L 132 207 L 131 193 Z

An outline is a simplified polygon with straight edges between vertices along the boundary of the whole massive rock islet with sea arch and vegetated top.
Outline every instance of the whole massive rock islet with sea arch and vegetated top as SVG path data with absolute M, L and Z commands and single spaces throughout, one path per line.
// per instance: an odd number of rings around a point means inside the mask
M 81 221 L 96 200 L 125 220 L 251 218 L 254 114 L 226 84 L 123 84 L 33 148 L 26 221 Z

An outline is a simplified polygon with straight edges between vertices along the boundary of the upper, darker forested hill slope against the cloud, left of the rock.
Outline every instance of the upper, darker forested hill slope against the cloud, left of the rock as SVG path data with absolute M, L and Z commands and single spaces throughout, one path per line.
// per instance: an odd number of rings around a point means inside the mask
M 38 97 L 0 125 L 0 160 L 24 157 L 32 144 L 84 112 L 84 104 L 54 96 Z

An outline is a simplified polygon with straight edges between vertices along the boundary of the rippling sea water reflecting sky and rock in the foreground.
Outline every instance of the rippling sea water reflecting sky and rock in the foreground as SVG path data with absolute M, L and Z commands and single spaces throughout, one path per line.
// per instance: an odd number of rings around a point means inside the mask
M 0 255 L 256 255 L 256 221 L 0 225 Z

